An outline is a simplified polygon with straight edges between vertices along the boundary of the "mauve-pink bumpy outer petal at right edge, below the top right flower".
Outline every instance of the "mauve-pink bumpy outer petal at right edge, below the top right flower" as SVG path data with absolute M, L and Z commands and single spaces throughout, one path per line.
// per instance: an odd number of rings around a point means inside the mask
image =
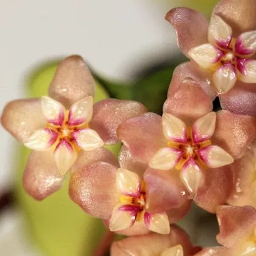
M 237 82 L 236 86 L 225 94 L 219 95 L 222 109 L 234 114 L 256 117 L 256 86 Z

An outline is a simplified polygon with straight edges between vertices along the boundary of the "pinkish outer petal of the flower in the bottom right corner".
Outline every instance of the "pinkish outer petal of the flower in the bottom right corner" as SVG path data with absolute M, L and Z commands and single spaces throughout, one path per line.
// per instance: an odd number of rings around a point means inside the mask
M 228 248 L 244 241 L 255 228 L 256 210 L 252 206 L 223 205 L 216 212 L 220 226 L 217 241 Z

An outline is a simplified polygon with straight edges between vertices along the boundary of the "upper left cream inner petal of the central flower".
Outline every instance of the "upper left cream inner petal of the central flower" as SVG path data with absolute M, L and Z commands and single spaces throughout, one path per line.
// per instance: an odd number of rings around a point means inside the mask
M 176 116 L 169 113 L 164 113 L 162 116 L 162 126 L 164 136 L 168 140 L 173 140 L 177 142 L 187 141 L 187 127 L 183 121 L 181 121 Z

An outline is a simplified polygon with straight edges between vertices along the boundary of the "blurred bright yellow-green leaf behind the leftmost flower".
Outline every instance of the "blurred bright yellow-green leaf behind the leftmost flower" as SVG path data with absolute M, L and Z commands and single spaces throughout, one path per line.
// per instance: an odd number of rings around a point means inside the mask
M 47 95 L 48 86 L 58 62 L 40 67 L 28 81 L 28 96 Z M 106 90 L 97 83 L 95 100 L 108 98 Z M 117 155 L 120 145 L 108 146 Z M 102 221 L 87 215 L 68 196 L 68 177 L 60 191 L 41 202 L 27 195 L 22 187 L 22 175 L 29 150 L 21 147 L 19 151 L 16 197 L 27 218 L 27 226 L 32 241 L 47 256 L 92 255 L 101 240 L 105 227 Z

